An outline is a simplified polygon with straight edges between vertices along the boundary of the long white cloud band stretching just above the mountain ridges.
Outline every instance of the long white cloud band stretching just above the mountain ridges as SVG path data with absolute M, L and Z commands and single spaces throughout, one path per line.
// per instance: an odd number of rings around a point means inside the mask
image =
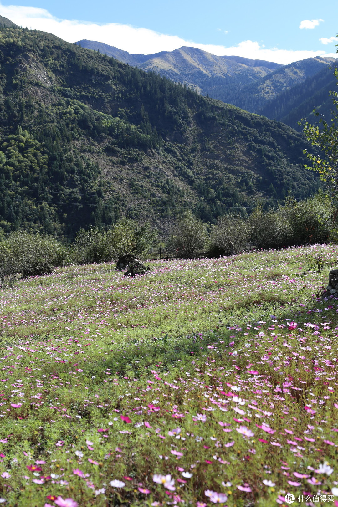
M 91 23 L 87 21 L 58 19 L 46 9 L 23 6 L 3 6 L 0 4 L 0 15 L 11 19 L 19 26 L 53 33 L 67 42 L 82 39 L 98 41 L 116 46 L 129 53 L 151 54 L 159 51 L 173 51 L 181 46 L 192 46 L 203 49 L 214 55 L 235 55 L 246 58 L 291 63 L 314 56 L 333 56 L 325 51 L 291 51 L 278 48 L 266 48 L 255 41 L 242 41 L 236 46 L 225 47 L 212 44 L 199 44 L 186 41 L 177 35 L 167 35 L 147 28 L 138 28 L 119 23 Z M 320 21 L 320 20 L 319 20 Z

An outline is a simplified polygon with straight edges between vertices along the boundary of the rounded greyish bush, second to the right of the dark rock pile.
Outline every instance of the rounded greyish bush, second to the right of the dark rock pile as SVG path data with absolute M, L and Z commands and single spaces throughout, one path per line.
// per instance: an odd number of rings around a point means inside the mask
M 248 243 L 249 224 L 240 215 L 221 216 L 211 236 L 211 248 L 219 248 L 223 255 L 235 255 Z

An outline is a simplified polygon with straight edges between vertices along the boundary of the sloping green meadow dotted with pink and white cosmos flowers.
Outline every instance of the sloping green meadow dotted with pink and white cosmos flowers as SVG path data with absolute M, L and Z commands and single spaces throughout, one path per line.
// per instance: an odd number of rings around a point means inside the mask
M 3 291 L 0 503 L 338 505 L 338 306 L 316 298 L 337 253 L 73 266 Z

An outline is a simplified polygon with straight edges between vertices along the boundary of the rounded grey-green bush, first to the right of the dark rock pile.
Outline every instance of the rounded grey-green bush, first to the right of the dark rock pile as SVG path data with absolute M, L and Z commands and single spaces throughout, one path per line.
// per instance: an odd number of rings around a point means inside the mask
M 190 210 L 184 212 L 173 226 L 168 244 L 182 259 L 191 259 L 207 240 L 206 226 Z

